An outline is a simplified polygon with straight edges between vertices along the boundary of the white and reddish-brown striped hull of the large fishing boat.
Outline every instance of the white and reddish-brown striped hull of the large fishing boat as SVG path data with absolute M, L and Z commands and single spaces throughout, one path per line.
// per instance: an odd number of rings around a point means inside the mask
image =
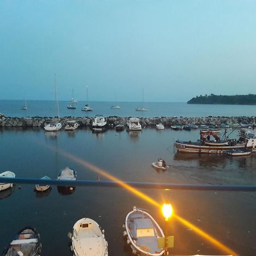
M 237 146 L 201 146 L 195 144 L 187 144 L 181 142 L 175 142 L 174 147 L 178 152 L 181 153 L 196 153 L 196 154 L 222 154 L 226 153 L 228 150 L 242 150 L 245 149 L 245 145 L 242 144 Z M 256 148 L 252 148 L 256 151 Z

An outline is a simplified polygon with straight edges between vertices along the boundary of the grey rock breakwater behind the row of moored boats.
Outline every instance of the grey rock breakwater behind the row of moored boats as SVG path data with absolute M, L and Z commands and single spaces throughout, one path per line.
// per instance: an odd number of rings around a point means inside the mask
M 0 127 L 44 127 L 46 122 L 53 118 L 47 117 L 5 117 L 0 114 Z M 75 120 L 81 127 L 90 127 L 94 117 L 61 117 L 60 122 L 65 126 L 68 120 Z M 221 123 L 229 123 L 236 126 L 238 123 L 250 124 L 253 123 L 251 117 L 153 117 L 139 118 L 143 127 L 155 127 L 158 123 L 163 123 L 164 126 L 172 125 L 215 125 L 219 127 Z M 106 117 L 106 121 L 110 127 L 123 124 L 129 121 L 129 117 Z

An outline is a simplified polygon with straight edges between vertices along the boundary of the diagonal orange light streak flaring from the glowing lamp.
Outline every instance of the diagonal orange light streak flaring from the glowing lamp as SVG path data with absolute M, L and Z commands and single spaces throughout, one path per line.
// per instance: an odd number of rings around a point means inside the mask
M 52 150 L 54 150 L 51 147 Z M 131 193 L 133 193 L 134 195 L 141 197 L 143 200 L 147 201 L 148 203 L 155 205 L 155 207 L 158 207 L 159 209 L 162 207 L 161 204 L 159 204 L 158 202 L 156 202 L 154 199 L 151 199 L 150 196 L 147 196 L 146 194 L 142 193 L 141 191 L 139 191 L 138 189 L 135 189 L 133 187 L 131 187 L 130 185 L 126 184 L 125 182 L 123 182 L 121 179 L 118 179 L 117 177 L 109 174 L 108 172 L 106 172 L 105 170 L 102 170 L 101 168 L 94 166 L 93 164 L 86 162 L 85 160 L 78 158 L 75 155 L 69 154 L 67 152 L 64 152 L 62 150 L 57 150 L 61 155 L 73 160 L 76 163 L 81 164 L 81 166 L 84 166 L 86 168 L 89 168 L 90 170 L 97 172 L 97 174 L 100 174 L 104 177 L 106 177 L 109 180 L 115 181 L 117 182 L 121 187 L 127 189 L 128 191 L 130 191 Z M 168 190 L 168 189 L 166 189 Z M 197 226 L 193 225 L 191 222 L 185 220 L 184 218 L 174 214 L 173 215 L 174 218 L 176 218 L 177 221 L 181 222 L 181 224 L 183 224 L 184 226 L 193 229 L 194 232 L 196 232 L 199 236 L 203 237 L 205 240 L 211 242 L 213 245 L 217 246 L 219 249 L 225 251 L 228 254 L 232 254 L 233 256 L 239 256 L 235 251 L 233 251 L 232 249 L 230 249 L 229 247 L 225 246 L 224 244 L 222 244 L 221 242 L 219 242 L 218 240 L 216 240 L 214 237 L 210 236 L 209 234 L 207 234 L 206 232 L 204 232 L 203 230 L 201 230 L 200 228 L 197 228 Z

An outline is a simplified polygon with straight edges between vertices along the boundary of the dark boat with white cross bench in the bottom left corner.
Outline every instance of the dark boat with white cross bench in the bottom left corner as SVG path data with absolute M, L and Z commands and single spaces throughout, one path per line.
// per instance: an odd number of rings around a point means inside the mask
M 39 256 L 42 244 L 35 228 L 26 226 L 18 232 L 10 242 L 9 247 L 3 251 L 4 256 Z

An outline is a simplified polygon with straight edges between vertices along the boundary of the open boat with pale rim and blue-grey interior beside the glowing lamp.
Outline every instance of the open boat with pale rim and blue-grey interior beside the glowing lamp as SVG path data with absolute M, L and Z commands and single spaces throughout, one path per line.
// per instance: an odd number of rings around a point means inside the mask
M 144 256 L 163 255 L 164 249 L 158 248 L 158 238 L 164 237 L 163 230 L 154 218 L 142 209 L 133 207 L 125 218 L 123 237 L 133 254 Z

